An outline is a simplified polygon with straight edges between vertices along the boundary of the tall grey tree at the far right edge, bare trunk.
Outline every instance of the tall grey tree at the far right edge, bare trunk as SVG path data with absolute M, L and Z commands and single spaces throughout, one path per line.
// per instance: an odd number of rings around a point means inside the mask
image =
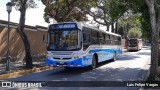
M 145 0 L 151 23 L 151 70 L 150 75 L 155 76 L 158 73 L 158 49 L 159 48 L 159 29 L 160 29 L 160 7 L 158 0 Z

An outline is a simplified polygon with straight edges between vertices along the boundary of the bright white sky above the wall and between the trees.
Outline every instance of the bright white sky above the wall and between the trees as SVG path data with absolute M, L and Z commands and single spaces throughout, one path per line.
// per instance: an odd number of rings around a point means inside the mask
M 0 0 L 0 20 L 5 20 L 8 21 L 8 13 L 6 11 L 6 3 L 9 2 L 10 0 Z M 37 8 L 34 9 L 27 9 L 26 11 L 26 25 L 30 26 L 44 26 L 47 27 L 49 24 L 44 21 L 43 14 L 44 14 L 44 8 L 45 6 L 42 4 L 41 1 L 36 1 Z M 20 17 L 20 12 L 15 9 L 15 7 L 12 7 L 12 12 L 10 14 L 10 21 L 19 23 L 19 17 Z M 92 20 L 91 17 L 88 17 L 89 20 Z M 87 22 L 87 24 L 89 24 Z M 90 26 L 95 26 L 91 25 Z M 100 27 L 102 30 L 106 30 L 106 27 Z

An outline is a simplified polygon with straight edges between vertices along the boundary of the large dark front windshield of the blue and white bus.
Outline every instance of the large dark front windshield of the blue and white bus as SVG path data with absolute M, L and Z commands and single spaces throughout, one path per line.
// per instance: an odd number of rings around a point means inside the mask
M 71 51 L 80 48 L 78 45 L 78 30 L 51 31 L 48 50 Z

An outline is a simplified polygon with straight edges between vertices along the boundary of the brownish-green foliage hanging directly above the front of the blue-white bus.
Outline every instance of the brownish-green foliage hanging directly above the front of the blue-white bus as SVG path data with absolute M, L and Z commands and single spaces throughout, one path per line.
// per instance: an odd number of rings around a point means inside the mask
M 64 21 L 87 21 L 86 13 L 81 9 L 90 9 L 95 0 L 41 0 L 46 6 L 44 19 L 54 18 L 58 22 Z M 89 3 L 88 3 L 89 2 Z

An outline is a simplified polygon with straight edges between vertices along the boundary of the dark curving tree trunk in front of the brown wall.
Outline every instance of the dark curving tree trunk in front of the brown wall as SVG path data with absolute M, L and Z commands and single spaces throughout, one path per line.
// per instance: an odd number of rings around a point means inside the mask
M 25 27 L 25 15 L 26 15 L 26 1 L 23 1 L 21 7 L 20 7 L 20 20 L 18 25 L 18 33 L 23 41 L 24 47 L 25 47 L 25 62 L 26 62 L 26 68 L 30 69 L 33 68 L 32 64 L 32 57 L 30 53 L 30 43 L 28 41 L 27 35 L 24 32 Z

